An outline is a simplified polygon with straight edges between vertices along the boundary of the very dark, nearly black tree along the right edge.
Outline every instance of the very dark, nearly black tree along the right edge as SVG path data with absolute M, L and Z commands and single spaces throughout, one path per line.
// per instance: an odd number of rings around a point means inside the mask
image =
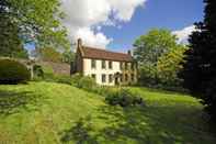
M 205 0 L 204 22 L 196 23 L 190 36 L 190 49 L 179 74 L 183 86 L 192 95 L 203 99 L 212 118 L 216 118 L 216 1 Z

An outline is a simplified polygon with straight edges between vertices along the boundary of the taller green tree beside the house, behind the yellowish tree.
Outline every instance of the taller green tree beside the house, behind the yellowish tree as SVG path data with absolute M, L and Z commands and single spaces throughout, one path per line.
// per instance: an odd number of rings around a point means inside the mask
M 171 49 L 179 47 L 177 40 L 171 31 L 156 29 L 135 41 L 134 56 L 139 64 L 140 82 L 148 85 L 160 82 L 157 71 L 158 60 Z

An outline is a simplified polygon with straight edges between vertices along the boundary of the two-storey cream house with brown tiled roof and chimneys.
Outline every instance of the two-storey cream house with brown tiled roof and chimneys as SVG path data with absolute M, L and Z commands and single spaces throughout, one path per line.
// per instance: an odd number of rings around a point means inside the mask
M 110 52 L 82 45 L 78 40 L 76 73 L 90 76 L 103 86 L 132 85 L 137 82 L 137 63 L 128 54 Z

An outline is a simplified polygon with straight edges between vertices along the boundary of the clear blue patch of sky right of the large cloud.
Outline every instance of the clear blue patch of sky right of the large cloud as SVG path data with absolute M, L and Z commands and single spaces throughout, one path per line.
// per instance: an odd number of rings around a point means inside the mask
M 110 49 L 126 51 L 136 37 L 154 27 L 175 31 L 203 20 L 203 0 L 148 0 L 129 22 L 121 23 L 122 29 L 105 26 L 102 31 L 113 37 Z

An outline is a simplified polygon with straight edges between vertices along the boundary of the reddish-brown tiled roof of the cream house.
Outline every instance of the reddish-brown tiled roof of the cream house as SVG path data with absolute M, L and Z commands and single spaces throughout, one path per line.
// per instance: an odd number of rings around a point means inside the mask
M 82 57 L 84 58 L 106 59 L 115 62 L 133 62 L 133 57 L 129 54 L 110 52 L 89 46 L 81 46 L 81 51 Z

